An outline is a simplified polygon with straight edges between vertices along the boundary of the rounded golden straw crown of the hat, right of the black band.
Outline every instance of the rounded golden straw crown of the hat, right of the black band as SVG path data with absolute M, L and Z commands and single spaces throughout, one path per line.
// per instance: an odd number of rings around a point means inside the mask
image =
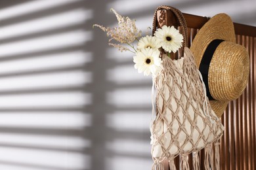
M 249 77 L 249 56 L 246 48 L 223 41 L 213 54 L 209 66 L 209 91 L 218 101 L 237 99 Z

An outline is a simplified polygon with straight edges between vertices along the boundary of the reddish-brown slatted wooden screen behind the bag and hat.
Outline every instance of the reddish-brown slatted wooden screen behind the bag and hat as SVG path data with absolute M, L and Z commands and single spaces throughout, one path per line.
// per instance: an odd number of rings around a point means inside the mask
M 171 11 L 166 15 L 173 16 Z M 184 14 L 188 25 L 189 45 L 196 33 L 209 18 Z M 176 25 L 174 19 L 167 22 Z M 179 25 L 179 24 L 178 24 Z M 161 25 L 158 25 L 159 27 Z M 236 100 L 230 101 L 221 121 L 224 135 L 221 138 L 221 169 L 256 169 L 256 116 L 255 116 L 255 82 L 256 82 L 256 27 L 234 23 L 236 42 L 247 48 L 250 58 L 250 75 L 244 93 Z M 203 152 L 200 153 L 203 157 Z M 190 162 L 192 156 L 189 156 Z M 201 158 L 201 160 L 203 160 Z M 179 163 L 179 160 L 177 161 Z M 192 167 L 190 165 L 190 167 Z M 203 162 L 201 162 L 201 169 Z

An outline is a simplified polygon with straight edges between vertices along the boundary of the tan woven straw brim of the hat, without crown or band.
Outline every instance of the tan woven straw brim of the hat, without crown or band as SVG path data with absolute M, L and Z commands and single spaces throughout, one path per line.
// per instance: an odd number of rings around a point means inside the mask
M 196 34 L 190 46 L 190 50 L 194 55 L 198 68 L 207 46 L 215 39 L 236 42 L 234 25 L 230 16 L 227 14 L 217 14 L 213 16 Z M 228 105 L 228 101 L 209 101 L 209 103 L 218 117 L 221 117 Z

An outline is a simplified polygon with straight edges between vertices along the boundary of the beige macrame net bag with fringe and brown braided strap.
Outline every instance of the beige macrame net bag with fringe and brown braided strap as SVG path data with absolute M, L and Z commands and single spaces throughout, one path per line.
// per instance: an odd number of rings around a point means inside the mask
M 171 170 L 176 169 L 174 158 L 177 156 L 180 156 L 180 168 L 189 169 L 190 153 L 193 153 L 194 169 L 200 169 L 198 151 L 202 148 L 205 148 L 205 169 L 219 169 L 219 139 L 224 128 L 209 105 L 202 75 L 187 47 L 186 21 L 181 11 L 173 7 L 161 6 L 156 12 L 159 9 L 171 10 L 179 20 L 184 37 L 184 49 L 181 50 L 184 55 L 171 59 L 162 51 L 163 70 L 153 79 L 156 108 L 153 109 L 150 127 L 152 169 L 162 170 L 163 160 L 169 161 Z M 153 33 L 157 25 L 156 12 Z

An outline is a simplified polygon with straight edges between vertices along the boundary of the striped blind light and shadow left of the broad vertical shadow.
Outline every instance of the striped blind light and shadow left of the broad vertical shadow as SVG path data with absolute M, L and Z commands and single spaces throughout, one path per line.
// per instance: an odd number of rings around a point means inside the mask
M 85 3 L 1 2 L 0 169 L 90 169 Z

